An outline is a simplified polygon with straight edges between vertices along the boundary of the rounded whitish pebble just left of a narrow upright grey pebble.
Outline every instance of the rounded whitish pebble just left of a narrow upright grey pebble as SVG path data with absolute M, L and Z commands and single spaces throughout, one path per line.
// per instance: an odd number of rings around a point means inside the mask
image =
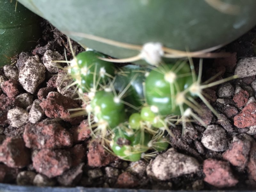
M 28 112 L 23 108 L 13 108 L 7 113 L 7 119 L 12 127 L 21 127 L 28 123 Z

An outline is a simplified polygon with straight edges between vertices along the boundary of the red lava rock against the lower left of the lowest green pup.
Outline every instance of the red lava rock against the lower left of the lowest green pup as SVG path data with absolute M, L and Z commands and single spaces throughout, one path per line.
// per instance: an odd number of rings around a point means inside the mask
M 87 154 L 88 165 L 91 167 L 102 167 L 111 163 L 115 157 L 110 153 L 106 153 L 102 145 L 97 140 L 89 143 L 89 151 Z

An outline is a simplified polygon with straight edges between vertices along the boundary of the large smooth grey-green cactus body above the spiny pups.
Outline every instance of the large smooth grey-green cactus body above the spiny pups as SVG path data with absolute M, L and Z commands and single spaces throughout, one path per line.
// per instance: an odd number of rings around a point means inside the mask
M 203 0 L 19 0 L 63 32 L 82 32 L 140 45 L 160 42 L 190 51 L 227 44 L 255 25 L 255 0 L 221 1 L 237 5 L 239 11 L 233 15 L 223 13 Z M 138 54 L 135 50 L 71 37 L 116 58 Z

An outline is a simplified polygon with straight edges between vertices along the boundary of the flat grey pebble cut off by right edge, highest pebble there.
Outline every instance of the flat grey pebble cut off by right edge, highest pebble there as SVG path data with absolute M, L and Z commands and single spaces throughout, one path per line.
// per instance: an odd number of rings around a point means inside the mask
M 234 75 L 239 78 L 256 75 L 256 57 L 242 58 L 237 62 Z

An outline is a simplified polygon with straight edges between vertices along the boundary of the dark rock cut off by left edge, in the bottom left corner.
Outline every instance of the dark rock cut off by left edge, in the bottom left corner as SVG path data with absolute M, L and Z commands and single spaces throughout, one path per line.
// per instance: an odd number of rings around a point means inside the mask
M 10 183 L 14 181 L 18 173 L 18 169 L 8 167 L 5 164 L 0 164 L 0 183 Z

